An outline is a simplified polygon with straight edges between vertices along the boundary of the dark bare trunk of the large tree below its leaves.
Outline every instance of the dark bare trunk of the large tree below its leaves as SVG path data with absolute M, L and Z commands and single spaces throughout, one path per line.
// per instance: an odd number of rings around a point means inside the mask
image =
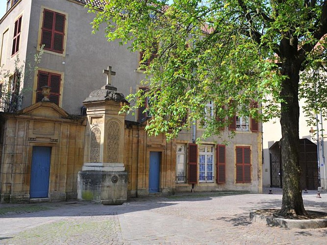
M 283 197 L 281 210 L 277 215 L 282 217 L 307 215 L 302 199 L 300 186 L 301 167 L 299 163 L 299 81 L 300 66 L 295 60 L 283 62 L 282 73 L 287 75 L 282 81 L 280 95 L 285 100 L 281 103 L 280 140 L 282 159 Z

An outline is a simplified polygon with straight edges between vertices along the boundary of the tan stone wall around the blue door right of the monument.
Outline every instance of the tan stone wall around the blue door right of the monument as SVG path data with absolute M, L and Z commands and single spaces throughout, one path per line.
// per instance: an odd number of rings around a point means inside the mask
M 150 151 L 161 152 L 159 191 L 168 194 L 175 190 L 175 139 L 167 142 L 162 134 L 149 137 L 144 126 L 128 125 L 125 128 L 124 163 L 129 197 L 149 195 Z

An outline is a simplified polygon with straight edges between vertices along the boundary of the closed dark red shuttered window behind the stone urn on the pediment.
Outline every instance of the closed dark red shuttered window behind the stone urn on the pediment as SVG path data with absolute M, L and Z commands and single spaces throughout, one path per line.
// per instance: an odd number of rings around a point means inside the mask
M 44 71 L 39 71 L 37 78 L 37 93 L 36 93 L 36 102 L 42 101 L 44 96 L 42 95 L 42 87 L 49 86 L 50 90 L 50 102 L 59 105 L 60 98 L 60 83 L 61 75 L 56 73 L 49 73 Z

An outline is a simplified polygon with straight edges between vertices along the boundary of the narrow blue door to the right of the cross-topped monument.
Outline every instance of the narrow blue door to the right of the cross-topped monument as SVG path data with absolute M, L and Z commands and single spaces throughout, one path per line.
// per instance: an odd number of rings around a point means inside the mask
M 150 151 L 149 192 L 159 192 L 161 152 Z

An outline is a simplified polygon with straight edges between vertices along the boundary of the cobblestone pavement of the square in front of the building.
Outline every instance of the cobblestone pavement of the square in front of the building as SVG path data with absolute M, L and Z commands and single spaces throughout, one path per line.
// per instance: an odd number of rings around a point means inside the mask
M 251 223 L 250 211 L 280 207 L 281 194 L 273 193 L 133 198 L 121 206 L 37 204 L 49 209 L 0 216 L 0 244 L 327 244 L 327 228 Z M 327 212 L 327 193 L 316 196 L 303 194 L 306 209 Z

